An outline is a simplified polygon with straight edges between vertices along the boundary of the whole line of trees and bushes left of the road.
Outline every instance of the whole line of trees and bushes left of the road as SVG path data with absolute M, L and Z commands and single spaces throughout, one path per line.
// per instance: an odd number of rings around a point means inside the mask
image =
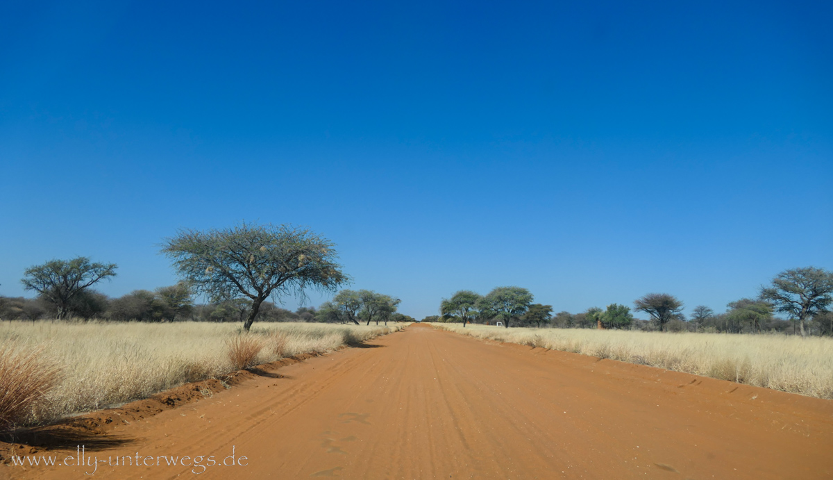
M 162 253 L 182 280 L 119 298 L 92 288 L 116 277 L 115 263 L 78 257 L 27 268 L 21 282 L 37 298 L 0 297 L 0 318 L 242 322 L 245 329 L 256 319 L 367 325 L 416 321 L 397 312 L 398 298 L 372 290 L 341 290 L 318 309 L 278 307 L 276 301 L 288 295 L 303 300 L 309 288 L 334 292 L 350 282 L 332 242 L 306 228 L 241 223 L 221 230 L 181 230 L 166 239 Z M 195 303 L 200 294 L 209 302 Z

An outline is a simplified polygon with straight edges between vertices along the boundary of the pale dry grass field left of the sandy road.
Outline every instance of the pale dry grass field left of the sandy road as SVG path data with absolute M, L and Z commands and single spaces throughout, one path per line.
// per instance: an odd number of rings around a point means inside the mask
M 6 378 L 47 378 L 48 366 L 60 368 L 54 388 L 32 383 L 39 393 L 14 414 L 16 422 L 49 422 L 279 358 L 327 353 L 400 328 L 255 323 L 245 334 L 239 324 L 228 323 L 3 322 L 0 388 L 7 391 Z

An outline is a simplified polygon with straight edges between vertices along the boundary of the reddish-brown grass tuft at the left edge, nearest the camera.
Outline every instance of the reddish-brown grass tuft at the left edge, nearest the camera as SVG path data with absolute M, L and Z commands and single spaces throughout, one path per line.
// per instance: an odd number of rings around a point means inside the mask
M 0 431 L 25 423 L 46 403 L 61 380 L 61 368 L 44 355 L 46 346 L 0 343 Z

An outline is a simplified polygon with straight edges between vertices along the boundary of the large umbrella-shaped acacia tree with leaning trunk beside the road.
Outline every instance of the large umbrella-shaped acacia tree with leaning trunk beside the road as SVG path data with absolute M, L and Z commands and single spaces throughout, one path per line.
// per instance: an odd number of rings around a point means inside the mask
M 307 228 L 241 223 L 207 231 L 179 230 L 163 243 L 179 275 L 214 301 L 248 298 L 243 328 L 270 295 L 304 298 L 306 288 L 334 291 L 347 283 L 334 244 Z

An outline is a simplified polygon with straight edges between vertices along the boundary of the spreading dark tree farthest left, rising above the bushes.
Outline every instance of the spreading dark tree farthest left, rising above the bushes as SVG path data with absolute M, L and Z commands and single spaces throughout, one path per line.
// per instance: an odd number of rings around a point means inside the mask
M 87 257 L 72 260 L 50 260 L 27 268 L 21 283 L 26 290 L 40 293 L 41 298 L 57 308 L 57 318 L 66 318 L 72 300 L 85 288 L 116 276 L 115 263 L 92 263 Z

